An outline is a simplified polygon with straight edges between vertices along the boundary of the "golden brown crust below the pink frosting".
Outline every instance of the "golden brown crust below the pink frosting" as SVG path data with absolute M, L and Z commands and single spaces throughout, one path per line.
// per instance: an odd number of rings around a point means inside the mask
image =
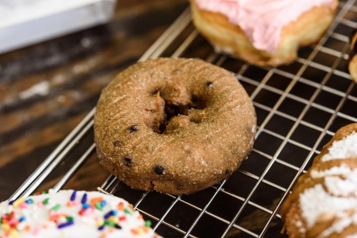
M 333 21 L 337 0 L 331 6 L 313 7 L 303 13 L 297 21 L 283 27 L 279 48 L 266 52 L 252 46 L 239 26 L 229 23 L 220 13 L 198 9 L 191 2 L 193 23 L 202 35 L 219 51 L 238 56 L 257 65 L 278 66 L 297 58 L 299 47 L 317 42 Z

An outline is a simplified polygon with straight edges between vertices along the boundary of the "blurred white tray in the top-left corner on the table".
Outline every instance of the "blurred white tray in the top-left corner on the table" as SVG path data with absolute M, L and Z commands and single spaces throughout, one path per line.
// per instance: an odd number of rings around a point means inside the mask
M 0 53 L 107 23 L 116 0 L 0 0 Z

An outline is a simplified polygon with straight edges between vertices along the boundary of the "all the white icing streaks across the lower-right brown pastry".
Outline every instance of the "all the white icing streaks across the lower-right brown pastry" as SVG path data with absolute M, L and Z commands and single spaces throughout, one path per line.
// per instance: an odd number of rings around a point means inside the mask
M 321 157 L 322 162 L 357 157 L 357 133 L 335 141 L 328 150 Z M 357 225 L 357 169 L 351 170 L 342 163 L 323 171 L 311 170 L 310 175 L 314 179 L 324 178 L 324 181 L 299 195 L 301 215 L 307 229 L 334 217 L 333 224 L 318 236 L 324 238 L 339 234 L 352 224 Z M 357 235 L 348 238 L 357 238 Z

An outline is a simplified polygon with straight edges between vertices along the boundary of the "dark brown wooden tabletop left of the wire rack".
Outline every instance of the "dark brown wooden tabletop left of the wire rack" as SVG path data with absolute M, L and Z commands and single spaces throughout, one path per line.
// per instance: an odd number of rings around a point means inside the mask
M 0 55 L 0 200 L 7 199 L 188 5 L 120 0 L 111 23 Z M 95 190 L 93 156 L 68 186 Z M 93 174 L 97 179 L 93 180 Z M 53 185 L 52 178 L 42 186 Z

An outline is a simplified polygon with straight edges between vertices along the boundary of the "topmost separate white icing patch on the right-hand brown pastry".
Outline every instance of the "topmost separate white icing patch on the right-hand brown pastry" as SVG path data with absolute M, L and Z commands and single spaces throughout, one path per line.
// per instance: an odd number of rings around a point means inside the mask
M 321 157 L 321 161 L 357 157 L 357 133 L 353 132 L 340 141 L 335 141 L 328 148 L 329 152 Z

